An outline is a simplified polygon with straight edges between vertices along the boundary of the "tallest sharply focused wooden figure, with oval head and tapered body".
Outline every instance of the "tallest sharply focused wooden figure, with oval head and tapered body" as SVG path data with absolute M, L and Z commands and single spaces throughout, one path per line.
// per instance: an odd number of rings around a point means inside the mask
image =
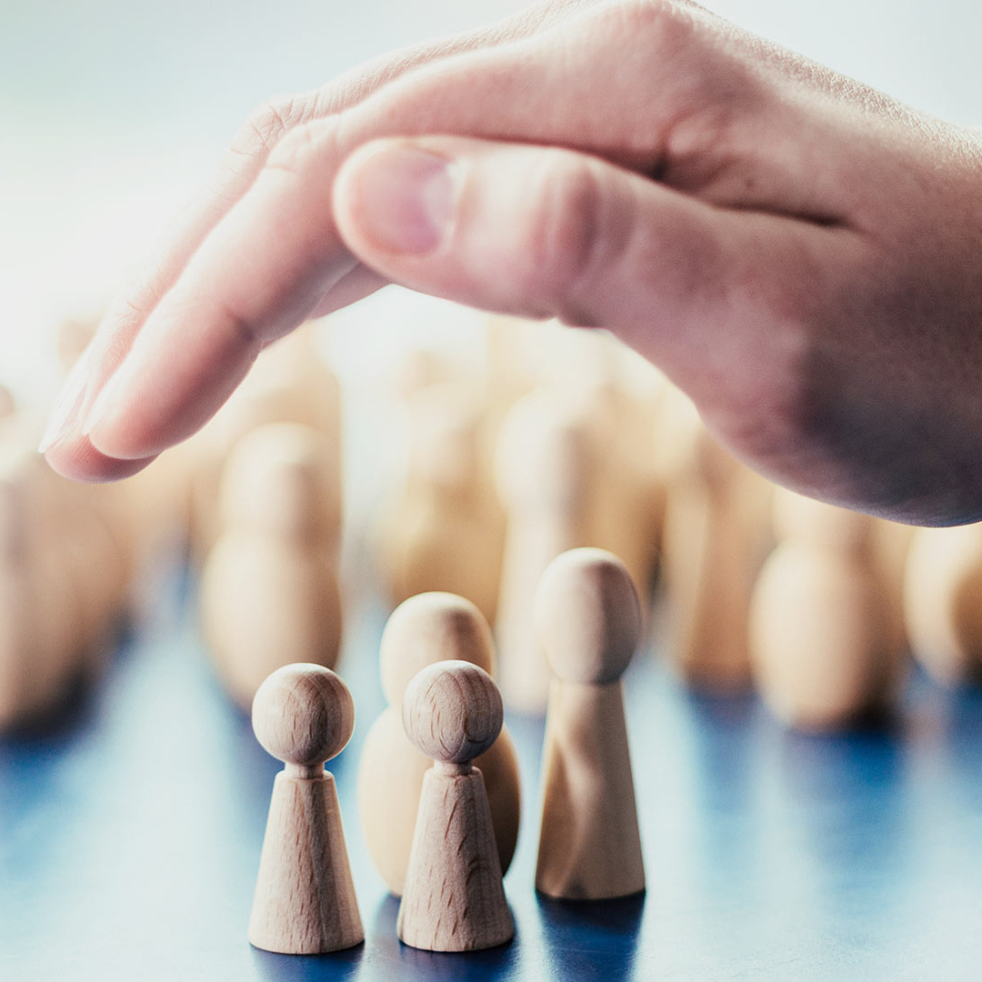
M 625 565 L 600 549 L 555 559 L 535 595 L 552 671 L 535 889 L 564 900 L 644 890 L 624 687 L 641 631 Z

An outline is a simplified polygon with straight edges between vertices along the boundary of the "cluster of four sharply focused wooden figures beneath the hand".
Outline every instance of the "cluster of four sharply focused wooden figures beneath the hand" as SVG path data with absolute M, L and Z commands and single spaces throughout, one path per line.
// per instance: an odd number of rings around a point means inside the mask
M 535 888 L 610 900 L 644 890 L 621 676 L 641 614 L 624 564 L 599 549 L 556 558 L 534 598 L 553 673 Z M 434 952 L 505 944 L 514 925 L 502 882 L 518 836 L 518 762 L 492 679 L 490 629 L 450 593 L 409 598 L 381 643 L 391 705 L 369 733 L 358 794 L 368 849 L 401 897 L 399 937 Z M 355 722 L 340 677 L 278 669 L 256 692 L 252 725 L 285 762 L 274 783 L 249 941 L 285 954 L 363 940 L 332 776 Z M 398 725 L 397 725 L 398 724 Z

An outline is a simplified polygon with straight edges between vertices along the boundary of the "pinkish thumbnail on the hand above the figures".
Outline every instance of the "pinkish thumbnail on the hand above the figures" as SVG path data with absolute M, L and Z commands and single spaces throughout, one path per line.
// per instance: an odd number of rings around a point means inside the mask
M 406 143 L 369 153 L 358 167 L 357 217 L 375 245 L 429 252 L 453 221 L 456 189 L 446 157 Z

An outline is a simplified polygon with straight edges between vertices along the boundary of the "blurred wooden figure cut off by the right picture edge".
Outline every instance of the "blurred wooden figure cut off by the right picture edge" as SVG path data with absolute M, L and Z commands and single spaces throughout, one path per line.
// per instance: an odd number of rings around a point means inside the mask
M 982 524 L 913 532 L 903 613 L 913 656 L 932 678 L 982 680 Z

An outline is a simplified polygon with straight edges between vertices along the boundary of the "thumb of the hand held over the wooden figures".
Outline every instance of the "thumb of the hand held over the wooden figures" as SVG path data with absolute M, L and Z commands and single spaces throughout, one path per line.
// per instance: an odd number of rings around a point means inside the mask
M 375 140 L 342 166 L 334 209 L 346 244 L 388 279 L 608 328 L 670 374 L 698 346 L 693 331 L 726 315 L 733 215 L 586 154 L 452 136 Z

